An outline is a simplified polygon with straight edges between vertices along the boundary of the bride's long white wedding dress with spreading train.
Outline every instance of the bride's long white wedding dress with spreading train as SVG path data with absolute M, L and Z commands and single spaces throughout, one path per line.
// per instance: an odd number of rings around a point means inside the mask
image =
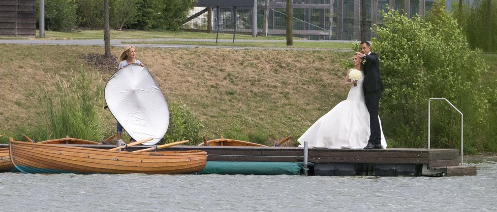
M 362 73 L 362 72 L 361 72 Z M 338 103 L 330 112 L 322 116 L 298 138 L 299 147 L 307 142 L 309 148 L 362 149 L 369 139 L 369 113 L 364 103 L 362 78 L 357 86 L 351 85 L 347 99 Z M 387 148 L 381 127 L 381 146 Z

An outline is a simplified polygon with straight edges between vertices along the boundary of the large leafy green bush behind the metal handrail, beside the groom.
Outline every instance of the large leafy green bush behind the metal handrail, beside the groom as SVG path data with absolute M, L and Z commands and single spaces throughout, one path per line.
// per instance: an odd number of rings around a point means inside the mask
M 409 19 L 390 10 L 376 30 L 371 49 L 381 60 L 385 85 L 383 129 L 391 147 L 425 147 L 428 99 L 447 98 L 464 114 L 464 150 L 474 153 L 489 112 L 480 87 L 487 66 L 449 13 L 433 7 L 430 14 Z M 431 147 L 459 147 L 459 114 L 446 102 L 433 102 L 431 112 Z

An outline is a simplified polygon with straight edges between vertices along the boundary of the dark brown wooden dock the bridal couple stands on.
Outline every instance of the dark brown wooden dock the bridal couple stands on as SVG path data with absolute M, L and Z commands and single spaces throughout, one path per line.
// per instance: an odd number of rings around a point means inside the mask
M 70 145 L 111 149 L 113 145 Z M 150 146 L 133 146 L 127 151 Z M 175 146 L 161 151 L 202 150 L 207 161 L 303 162 L 303 148 Z M 335 150 L 308 149 L 309 175 L 461 176 L 476 175 L 476 166 L 460 166 L 457 149 Z

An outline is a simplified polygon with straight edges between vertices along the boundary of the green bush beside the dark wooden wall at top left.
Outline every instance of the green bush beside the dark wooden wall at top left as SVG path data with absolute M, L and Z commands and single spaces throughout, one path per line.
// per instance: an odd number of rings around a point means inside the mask
M 63 31 L 75 28 L 78 25 L 76 10 L 76 0 L 45 1 L 46 29 Z M 37 16 L 37 18 L 38 17 L 39 16 Z

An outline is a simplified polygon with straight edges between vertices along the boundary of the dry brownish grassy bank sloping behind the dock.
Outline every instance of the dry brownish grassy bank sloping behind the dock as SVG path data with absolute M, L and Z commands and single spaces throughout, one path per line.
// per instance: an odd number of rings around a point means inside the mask
M 91 56 L 103 54 L 102 47 L 0 48 L 0 134 L 5 135 L 0 141 L 4 142 L 12 134 L 25 133 L 23 129 L 36 119 L 40 113 L 34 101 L 40 95 L 38 87 L 46 85 L 54 91 L 53 76 L 69 79 L 78 75 L 77 70 L 84 69 L 100 74 L 101 78 L 96 76 L 94 80 L 105 83 L 116 65 L 102 65 Z M 115 56 L 121 49 L 111 51 Z M 224 136 L 267 145 L 285 136 L 292 136 L 295 141 L 347 97 L 349 88 L 341 84 L 346 70 L 340 63 L 350 55 L 310 50 L 137 49 L 138 59 L 151 70 L 166 100 L 187 105 L 201 119 L 204 128 L 200 136 Z M 484 58 L 490 69 L 482 84 L 497 88 L 497 57 Z M 101 109 L 99 116 L 106 134 L 112 134 L 112 115 Z M 382 122 L 395 120 L 382 118 Z M 494 126 L 497 119 L 489 120 L 485 130 L 491 133 Z M 384 129 L 387 142 L 389 137 L 394 139 L 389 131 Z

